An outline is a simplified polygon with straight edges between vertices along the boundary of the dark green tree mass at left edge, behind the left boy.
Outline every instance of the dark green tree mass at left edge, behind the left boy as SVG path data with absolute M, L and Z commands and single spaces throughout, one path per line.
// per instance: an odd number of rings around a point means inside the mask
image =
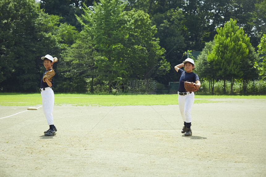
M 0 11 L 1 90 L 35 91 L 40 57 L 55 44 L 48 31 L 43 32 L 55 19 L 41 21 L 45 14 L 34 0 L 1 0 Z

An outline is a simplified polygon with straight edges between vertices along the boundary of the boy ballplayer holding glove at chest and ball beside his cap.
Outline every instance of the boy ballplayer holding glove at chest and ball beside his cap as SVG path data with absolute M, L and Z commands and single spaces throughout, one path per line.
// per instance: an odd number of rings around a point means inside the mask
M 54 60 L 57 58 L 53 58 L 51 55 L 45 55 L 45 57 L 41 57 L 43 60 L 43 65 L 46 69 L 45 73 L 53 69 Z M 51 81 L 48 78 L 44 78 L 45 73 L 41 78 L 41 100 L 42 100 L 42 108 L 44 115 L 46 117 L 47 123 L 49 125 L 49 129 L 44 132 L 44 136 L 54 136 L 57 131 L 54 126 L 54 91 L 52 90 L 52 86 L 54 86 L 54 77 L 52 77 Z

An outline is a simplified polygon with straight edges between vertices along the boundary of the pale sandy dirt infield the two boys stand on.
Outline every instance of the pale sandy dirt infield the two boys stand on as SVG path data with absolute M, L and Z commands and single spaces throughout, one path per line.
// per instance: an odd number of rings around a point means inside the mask
M 0 107 L 0 176 L 266 176 L 266 99 L 178 105 Z M 37 105 L 36 107 L 41 106 Z

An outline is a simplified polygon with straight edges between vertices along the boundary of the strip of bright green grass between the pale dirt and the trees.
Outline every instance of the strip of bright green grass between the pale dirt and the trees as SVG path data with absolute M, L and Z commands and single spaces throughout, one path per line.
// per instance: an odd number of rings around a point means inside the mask
M 266 99 L 266 95 L 195 95 L 194 103 L 213 103 L 218 101 L 210 99 L 219 98 Z M 55 94 L 54 101 L 55 105 L 75 106 L 171 105 L 178 104 L 178 95 Z M 42 104 L 41 94 L 0 93 L 0 106 L 35 106 L 40 104 Z

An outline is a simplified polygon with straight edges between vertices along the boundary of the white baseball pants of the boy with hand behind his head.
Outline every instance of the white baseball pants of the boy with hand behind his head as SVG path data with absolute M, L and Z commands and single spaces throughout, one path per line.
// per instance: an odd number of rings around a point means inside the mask
M 182 120 L 186 123 L 190 123 L 192 120 L 191 109 L 194 103 L 194 96 L 194 92 L 184 96 L 178 94 L 178 107 Z

